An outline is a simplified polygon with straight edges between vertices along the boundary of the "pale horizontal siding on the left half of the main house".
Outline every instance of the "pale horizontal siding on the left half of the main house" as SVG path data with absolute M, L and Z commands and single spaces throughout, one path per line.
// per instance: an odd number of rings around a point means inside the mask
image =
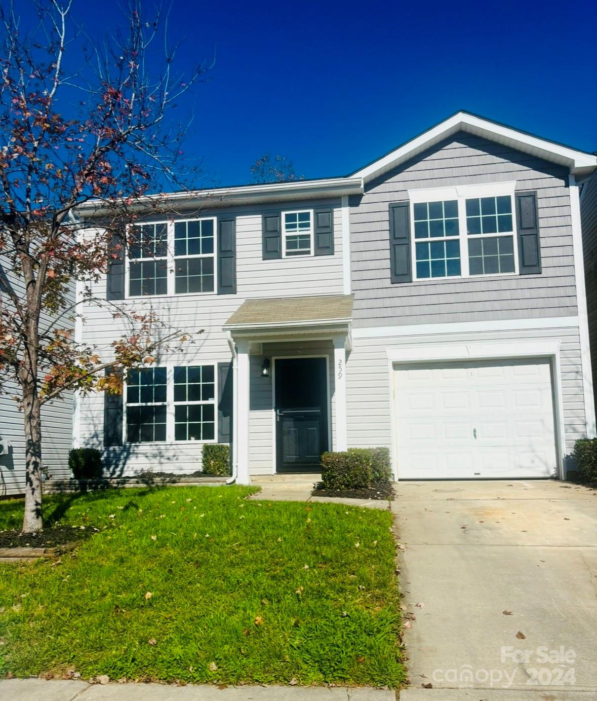
M 280 210 L 310 208 L 334 210 L 334 254 L 296 256 L 273 260 L 262 258 L 262 215 Z M 118 301 L 118 305 L 134 305 L 137 310 L 151 308 L 163 322 L 193 334 L 203 329 L 196 342 L 184 346 L 184 353 L 162 353 L 160 362 L 177 365 L 217 364 L 231 360 L 231 350 L 222 326 L 245 299 L 256 297 L 298 297 L 309 294 L 341 294 L 343 292 L 343 239 L 341 200 L 302 200 L 299 202 L 256 207 L 218 207 L 203 210 L 195 217 L 236 217 L 237 294 L 192 294 L 184 297 L 146 297 Z M 106 294 L 106 278 L 93 285 L 98 297 Z M 123 322 L 114 320 L 109 309 L 90 307 L 84 311 L 83 337 L 100 346 L 102 357 L 111 359 L 110 343 L 122 334 Z M 263 355 L 332 354 L 331 343 L 294 343 L 285 346 L 264 346 Z M 271 474 L 273 470 L 273 425 L 271 411 L 271 377 L 261 378 L 263 355 L 252 357 L 251 410 L 249 422 L 252 441 L 252 474 Z M 159 365 L 159 363 L 158 363 Z M 332 381 L 333 382 L 333 381 Z M 333 385 L 331 393 L 333 392 Z M 104 397 L 92 394 L 82 397 L 78 419 L 81 445 L 103 449 Z M 333 424 L 332 424 L 333 426 Z M 107 470 L 114 475 L 142 470 L 194 472 L 201 468 L 201 442 L 192 444 L 140 443 L 106 449 Z

